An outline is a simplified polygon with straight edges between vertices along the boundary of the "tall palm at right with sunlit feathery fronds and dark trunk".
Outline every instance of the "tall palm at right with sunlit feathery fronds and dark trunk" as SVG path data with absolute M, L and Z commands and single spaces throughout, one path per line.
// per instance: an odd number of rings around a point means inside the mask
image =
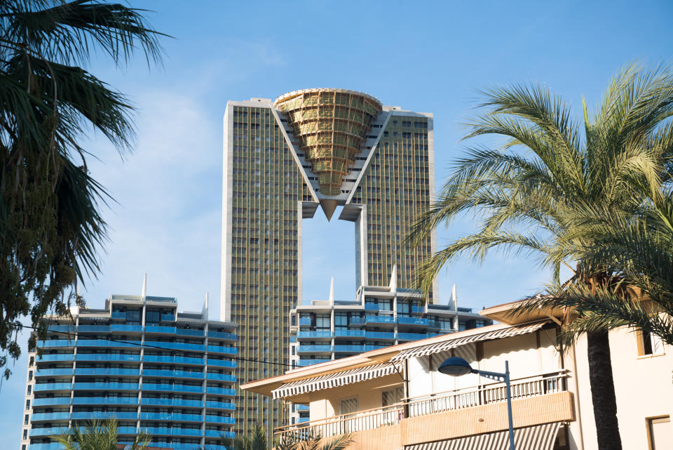
M 505 138 L 504 145 L 468 149 L 435 204 L 412 225 L 407 242 L 419 244 L 435 227 L 469 212 L 483 219 L 480 230 L 421 265 L 423 291 L 447 263 L 463 255 L 482 260 L 493 248 L 533 256 L 552 268 L 555 279 L 562 265 L 578 284 L 605 279 L 604 265 L 581 259 L 592 242 L 576 233 L 578 217 L 587 208 L 634 215 L 646 201 L 641 186 L 669 181 L 672 75 L 662 68 L 625 67 L 596 114 L 583 102 L 582 122 L 545 86 L 493 88 L 483 95 L 484 112 L 469 124 L 467 138 L 496 135 Z M 587 345 L 598 446 L 621 449 L 606 329 L 587 332 Z

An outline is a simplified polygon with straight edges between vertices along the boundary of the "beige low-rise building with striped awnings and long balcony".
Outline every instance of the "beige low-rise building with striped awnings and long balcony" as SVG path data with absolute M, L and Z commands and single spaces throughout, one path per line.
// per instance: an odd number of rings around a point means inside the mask
M 560 353 L 559 314 L 512 320 L 516 303 L 482 310 L 505 322 L 288 371 L 241 388 L 310 406 L 310 421 L 276 430 L 351 433 L 352 450 L 486 450 L 507 447 L 503 383 L 437 371 L 450 356 L 474 369 L 509 362 L 517 450 L 594 450 L 596 430 L 585 339 Z M 610 334 L 624 449 L 673 449 L 673 356 L 660 340 L 618 329 Z

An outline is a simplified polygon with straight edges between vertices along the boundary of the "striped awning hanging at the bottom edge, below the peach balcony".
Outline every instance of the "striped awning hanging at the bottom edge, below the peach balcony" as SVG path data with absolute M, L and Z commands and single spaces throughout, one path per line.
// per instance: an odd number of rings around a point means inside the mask
M 515 428 L 515 448 L 517 450 L 552 450 L 560 427 L 560 422 L 554 422 Z M 509 448 L 508 430 L 405 446 L 405 450 L 508 450 Z

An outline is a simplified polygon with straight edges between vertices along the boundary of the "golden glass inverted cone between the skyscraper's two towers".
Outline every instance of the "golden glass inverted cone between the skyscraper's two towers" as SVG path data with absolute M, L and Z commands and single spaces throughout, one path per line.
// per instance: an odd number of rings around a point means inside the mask
M 337 197 L 381 102 L 362 92 L 321 88 L 281 95 L 274 106 L 287 113 L 299 149 L 318 176 L 320 193 Z

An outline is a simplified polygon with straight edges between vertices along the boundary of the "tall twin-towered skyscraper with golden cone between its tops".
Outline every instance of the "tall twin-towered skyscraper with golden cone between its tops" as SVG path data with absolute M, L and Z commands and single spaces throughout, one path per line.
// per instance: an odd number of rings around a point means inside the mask
M 434 192 L 432 114 L 345 89 L 227 103 L 224 114 L 222 317 L 238 323 L 238 380 L 290 368 L 289 312 L 301 302 L 301 220 L 318 206 L 355 224 L 355 289 L 414 287 L 435 237 L 402 246 Z M 327 238 L 326 238 L 327 239 Z M 436 286 L 432 295 L 437 295 Z M 430 299 L 430 301 L 432 301 Z M 240 392 L 236 431 L 271 427 L 284 409 Z

